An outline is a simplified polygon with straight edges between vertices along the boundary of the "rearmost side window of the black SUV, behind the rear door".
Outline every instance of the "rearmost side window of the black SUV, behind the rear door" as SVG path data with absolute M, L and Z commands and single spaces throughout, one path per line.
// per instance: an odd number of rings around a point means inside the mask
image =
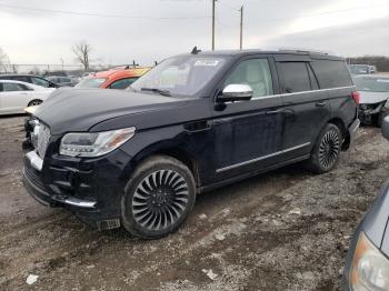
M 311 66 L 321 89 L 352 86 L 350 72 L 343 61 L 315 60 Z

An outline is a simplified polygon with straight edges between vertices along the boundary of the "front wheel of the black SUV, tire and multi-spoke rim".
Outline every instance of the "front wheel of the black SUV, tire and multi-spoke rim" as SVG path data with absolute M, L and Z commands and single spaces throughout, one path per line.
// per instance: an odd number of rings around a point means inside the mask
M 134 170 L 121 199 L 123 228 L 136 237 L 158 239 L 174 232 L 196 201 L 196 183 L 187 165 L 153 155 Z

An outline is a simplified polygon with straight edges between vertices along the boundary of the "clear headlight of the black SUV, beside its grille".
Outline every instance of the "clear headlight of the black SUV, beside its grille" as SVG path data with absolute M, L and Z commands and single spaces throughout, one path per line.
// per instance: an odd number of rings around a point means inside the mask
M 67 133 L 61 140 L 59 152 L 70 157 L 99 157 L 119 148 L 132 138 L 134 132 L 136 128 Z

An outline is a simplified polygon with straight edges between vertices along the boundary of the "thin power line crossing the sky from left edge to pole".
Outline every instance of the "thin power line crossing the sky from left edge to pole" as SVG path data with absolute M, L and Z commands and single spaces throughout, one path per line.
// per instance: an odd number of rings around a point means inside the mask
M 77 12 L 77 11 L 64 11 L 64 10 L 51 10 L 34 7 L 21 7 L 10 6 L 0 3 L 1 7 L 11 9 L 30 10 L 37 12 L 49 12 L 58 14 L 72 14 L 79 17 L 102 17 L 102 18 L 126 18 L 126 19 L 156 19 L 156 20 L 198 20 L 198 19 L 210 19 L 211 17 L 149 17 L 149 16 L 123 16 L 123 14 L 102 14 L 102 13 L 89 13 L 89 12 Z

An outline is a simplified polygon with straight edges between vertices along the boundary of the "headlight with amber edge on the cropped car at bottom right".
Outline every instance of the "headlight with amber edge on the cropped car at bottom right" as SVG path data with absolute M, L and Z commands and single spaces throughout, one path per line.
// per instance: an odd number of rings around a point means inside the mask
M 353 291 L 389 290 L 389 260 L 363 232 L 353 254 L 350 284 Z

